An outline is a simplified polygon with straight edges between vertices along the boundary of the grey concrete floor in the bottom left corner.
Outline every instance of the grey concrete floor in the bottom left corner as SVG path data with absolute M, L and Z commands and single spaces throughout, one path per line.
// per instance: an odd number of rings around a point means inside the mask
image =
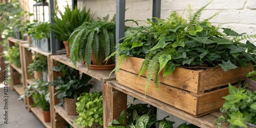
M 23 100 L 17 100 L 18 94 L 8 89 L 8 110 L 5 108 L 4 88 L 0 88 L 0 128 L 43 128 L 37 117 L 28 112 Z M 5 111 L 8 111 L 8 124 L 5 123 Z

